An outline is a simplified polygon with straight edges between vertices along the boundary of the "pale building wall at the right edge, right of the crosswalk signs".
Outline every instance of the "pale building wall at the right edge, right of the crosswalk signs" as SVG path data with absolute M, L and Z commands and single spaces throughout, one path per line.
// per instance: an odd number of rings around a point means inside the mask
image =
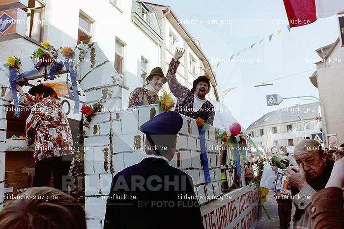
M 343 45 L 338 38 L 316 52 L 321 60 L 315 63 L 317 70 L 310 79 L 319 91 L 322 103 L 321 122 L 326 133 L 326 142 L 339 146 L 344 143 Z

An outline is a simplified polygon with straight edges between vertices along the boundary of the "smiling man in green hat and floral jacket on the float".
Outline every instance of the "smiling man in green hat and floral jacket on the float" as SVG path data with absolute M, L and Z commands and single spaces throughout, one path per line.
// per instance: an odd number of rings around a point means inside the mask
M 158 92 L 167 82 L 167 78 L 164 76 L 163 70 L 156 67 L 152 69 L 146 81 L 146 88 L 137 87 L 130 93 L 129 107 L 154 104 L 158 100 Z

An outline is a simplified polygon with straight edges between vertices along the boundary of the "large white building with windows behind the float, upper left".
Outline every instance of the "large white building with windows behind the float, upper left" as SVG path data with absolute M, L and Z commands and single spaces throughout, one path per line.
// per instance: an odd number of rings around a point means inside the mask
M 166 74 L 175 49 L 184 48 L 178 80 L 191 88 L 193 80 L 204 75 L 198 67 L 204 67 L 211 76 L 208 98 L 218 101 L 215 75 L 206 56 L 198 41 L 177 23 L 171 8 L 137 0 L 28 0 L 27 4 L 22 8 L 31 22 L 26 36 L 0 42 L 0 62 L 10 56 L 27 57 L 43 41 L 55 47 L 97 42 L 123 76 L 121 105 L 127 107 L 130 92 L 144 85 L 151 69 L 160 66 Z

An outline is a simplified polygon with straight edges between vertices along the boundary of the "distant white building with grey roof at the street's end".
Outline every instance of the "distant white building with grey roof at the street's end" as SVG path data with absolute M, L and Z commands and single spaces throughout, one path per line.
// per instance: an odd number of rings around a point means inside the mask
M 252 140 L 265 152 L 273 147 L 286 146 L 287 151 L 294 152 L 295 146 L 303 139 L 316 138 L 321 133 L 315 120 L 318 103 L 276 108 L 252 123 L 247 131 Z M 319 136 L 321 138 L 321 136 Z

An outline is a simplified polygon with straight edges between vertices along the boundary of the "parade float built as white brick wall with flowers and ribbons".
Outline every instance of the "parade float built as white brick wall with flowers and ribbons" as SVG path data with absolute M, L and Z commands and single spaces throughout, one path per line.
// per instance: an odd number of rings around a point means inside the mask
M 63 80 L 71 88 L 69 96 L 61 98 L 76 154 L 70 191 L 85 204 L 88 228 L 100 229 L 112 178 L 145 157 L 145 136 L 139 127 L 165 112 L 164 97 L 159 104 L 123 108 L 126 89 L 122 77 L 96 43 L 81 44 L 73 50 L 42 43 L 31 57 L 12 57 L 1 63 L 0 208 L 8 201 L 4 197 L 10 199 L 10 194 L 32 185 L 34 172 L 32 148 L 25 140 L 29 110 L 13 99 L 17 96 L 15 85 L 28 81 L 24 87 L 28 91 L 47 80 Z M 226 131 L 182 117 L 183 127 L 170 164 L 193 178 L 204 227 L 255 228 L 261 216 L 260 191 L 245 180 L 246 147 L 254 145 L 250 136 L 241 132 L 239 124 Z

